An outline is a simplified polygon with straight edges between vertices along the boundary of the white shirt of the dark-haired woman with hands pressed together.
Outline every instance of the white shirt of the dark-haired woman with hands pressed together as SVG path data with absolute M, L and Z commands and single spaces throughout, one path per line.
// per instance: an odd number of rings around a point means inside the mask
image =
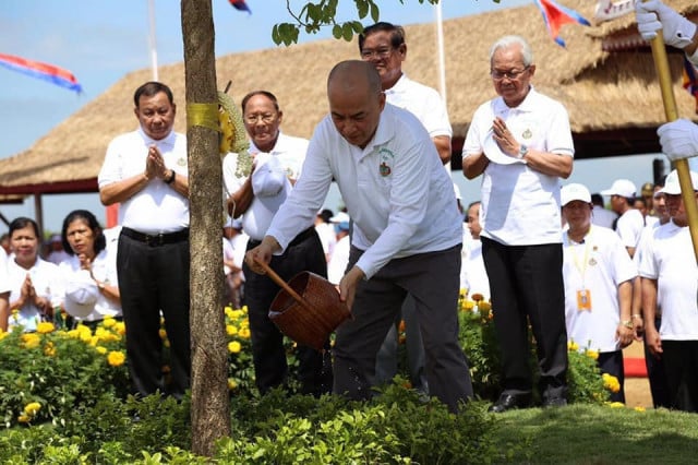
M 85 283 L 86 286 L 94 285 L 92 278 L 85 278 L 85 274 L 88 272 L 80 266 L 80 259 L 76 255 L 72 255 L 69 260 L 62 262 L 59 265 L 61 276 L 64 283 Z M 119 286 L 119 278 L 117 276 L 117 253 L 113 249 L 105 249 L 100 251 L 92 262 L 92 273 L 100 283 L 106 286 Z M 71 286 L 73 287 L 73 286 Z M 64 285 L 64 288 L 69 288 Z M 63 297 L 64 298 L 64 297 Z M 95 302 L 95 309 L 85 318 L 80 318 L 81 321 L 100 321 L 105 317 L 121 317 L 121 302 L 112 300 L 99 293 L 97 301 Z

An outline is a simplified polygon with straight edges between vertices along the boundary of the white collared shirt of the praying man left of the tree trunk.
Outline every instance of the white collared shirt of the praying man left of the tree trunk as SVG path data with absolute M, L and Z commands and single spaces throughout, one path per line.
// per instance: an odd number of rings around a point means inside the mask
M 107 148 L 99 171 L 99 189 L 142 174 L 151 145 L 156 145 L 168 169 L 189 176 L 186 138 L 174 131 L 159 141 L 148 138 L 141 128 L 118 135 Z M 144 234 L 174 233 L 189 227 L 189 199 L 161 179 L 152 179 L 143 190 L 121 203 L 119 223 Z

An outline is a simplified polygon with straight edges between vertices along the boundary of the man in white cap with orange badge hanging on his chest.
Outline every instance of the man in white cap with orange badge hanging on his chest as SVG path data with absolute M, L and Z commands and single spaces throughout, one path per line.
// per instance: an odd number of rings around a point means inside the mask
M 623 348 L 635 336 L 630 312 L 637 267 L 618 235 L 591 225 L 593 204 L 583 184 L 564 186 L 561 199 L 569 225 L 563 236 L 567 338 L 599 351 L 601 372 L 621 383 L 611 401 L 625 402 Z

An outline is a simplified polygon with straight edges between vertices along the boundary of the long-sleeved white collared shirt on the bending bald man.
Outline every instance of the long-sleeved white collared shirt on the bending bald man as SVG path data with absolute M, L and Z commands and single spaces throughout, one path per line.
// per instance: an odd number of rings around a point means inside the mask
M 386 104 L 365 148 L 349 144 L 329 116 L 320 122 L 303 176 L 267 231 L 284 249 L 314 223 L 333 179 L 353 220 L 351 243 L 365 251 L 357 265 L 366 278 L 392 259 L 461 241 L 452 180 L 409 111 Z

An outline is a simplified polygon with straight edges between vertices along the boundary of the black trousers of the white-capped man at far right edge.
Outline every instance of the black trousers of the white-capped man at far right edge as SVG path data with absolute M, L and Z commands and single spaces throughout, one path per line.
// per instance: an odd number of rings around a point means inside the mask
M 698 412 L 698 341 L 662 341 L 670 408 Z

